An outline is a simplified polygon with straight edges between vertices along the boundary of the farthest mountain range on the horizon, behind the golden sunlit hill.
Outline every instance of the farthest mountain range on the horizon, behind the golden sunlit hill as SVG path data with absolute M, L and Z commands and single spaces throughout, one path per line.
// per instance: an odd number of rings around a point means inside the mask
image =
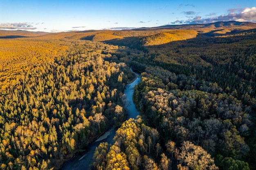
M 135 35 L 145 35 L 145 33 L 141 33 L 141 31 L 152 32 L 164 32 L 166 29 L 186 29 L 186 30 L 194 30 L 198 33 L 206 34 L 208 36 L 215 35 L 224 35 L 231 33 L 238 33 L 239 31 L 255 29 L 256 23 L 253 22 L 238 22 L 238 21 L 227 21 L 227 22 L 215 22 L 209 24 L 182 24 L 182 25 L 164 25 L 158 27 L 142 27 L 136 29 L 129 30 L 120 30 L 120 31 L 112 31 L 112 30 L 87 30 L 87 31 L 71 31 L 71 32 L 61 32 L 61 33 L 47 33 L 47 32 L 34 32 L 34 31 L 7 31 L 0 30 L 0 38 L 20 38 L 20 37 L 38 37 L 38 36 L 46 36 L 46 37 L 62 37 L 61 35 L 67 35 L 64 38 L 74 37 L 79 38 L 80 35 L 85 37 L 90 37 L 91 35 L 96 34 L 106 34 L 113 35 L 113 38 L 121 38 L 125 36 L 135 36 Z M 110 33 L 109 33 L 110 32 Z M 73 36 L 71 36 L 73 35 Z M 77 35 L 77 36 L 74 36 Z M 87 35 L 87 36 L 86 36 Z M 116 36 L 116 37 L 115 37 Z M 82 37 L 83 38 L 83 37 Z

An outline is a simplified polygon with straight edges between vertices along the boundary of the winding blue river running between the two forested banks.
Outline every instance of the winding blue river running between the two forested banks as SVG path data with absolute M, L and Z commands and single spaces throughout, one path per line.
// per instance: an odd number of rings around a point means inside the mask
M 124 94 L 126 95 L 126 108 L 128 111 L 127 119 L 135 119 L 137 115 L 139 115 L 139 112 L 137 111 L 135 104 L 132 100 L 134 86 L 138 84 L 141 80 L 139 75 L 137 73 L 135 74 L 137 76 L 137 79 L 135 79 L 134 82 L 126 85 L 126 89 L 124 90 Z M 112 144 L 112 139 L 114 138 L 116 131 L 117 128 L 112 128 L 110 131 L 105 132 L 99 139 L 92 142 L 92 144 L 87 147 L 86 152 L 78 154 L 74 158 L 70 159 L 70 161 L 66 162 L 63 165 L 62 170 L 88 170 L 90 168 L 90 164 L 93 161 L 92 157 L 94 155 L 95 148 L 99 146 L 101 142 L 105 141 Z

